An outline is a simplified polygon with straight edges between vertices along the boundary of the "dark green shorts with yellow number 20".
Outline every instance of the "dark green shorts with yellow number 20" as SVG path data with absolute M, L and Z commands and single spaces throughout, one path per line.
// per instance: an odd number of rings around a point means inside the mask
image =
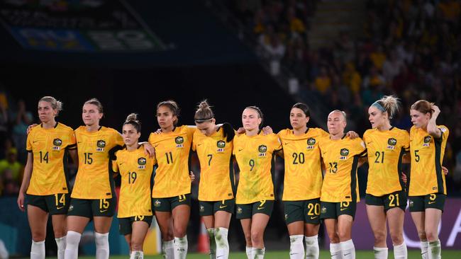
M 283 204 L 287 225 L 296 221 L 320 224 L 320 198 L 286 201 Z

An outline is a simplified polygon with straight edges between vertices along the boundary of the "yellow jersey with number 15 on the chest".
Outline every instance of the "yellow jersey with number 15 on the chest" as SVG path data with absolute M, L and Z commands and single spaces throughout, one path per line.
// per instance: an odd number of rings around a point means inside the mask
M 72 198 L 109 199 L 114 188 L 109 151 L 123 146 L 120 133 L 110 127 L 88 132 L 85 126 L 75 129 L 79 151 L 79 171 L 75 178 Z

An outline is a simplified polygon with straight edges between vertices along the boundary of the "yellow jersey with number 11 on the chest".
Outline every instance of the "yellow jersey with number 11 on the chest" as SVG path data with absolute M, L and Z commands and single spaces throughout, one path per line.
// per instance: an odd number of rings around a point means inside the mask
M 151 133 L 149 143 L 155 148 L 155 169 L 152 198 L 185 195 L 191 192 L 189 155 L 195 128 L 174 127 L 172 132 Z

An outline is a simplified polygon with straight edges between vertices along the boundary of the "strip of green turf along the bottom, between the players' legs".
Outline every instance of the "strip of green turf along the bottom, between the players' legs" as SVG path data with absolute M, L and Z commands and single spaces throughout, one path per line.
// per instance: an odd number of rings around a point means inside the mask
M 460 253 L 461 251 L 453 251 L 453 250 L 444 250 L 442 251 L 442 257 L 443 259 L 458 259 L 460 258 Z M 79 256 L 79 258 L 92 258 L 94 259 L 94 256 Z M 128 255 L 126 256 L 121 256 L 121 255 L 111 255 L 111 259 L 126 259 L 128 258 Z M 146 259 L 161 259 L 161 255 L 155 255 L 155 256 L 145 256 L 144 258 Z M 208 259 L 208 255 L 204 254 L 199 254 L 199 253 L 189 253 L 187 255 L 187 259 Z M 235 258 L 235 259 L 240 259 L 246 258 L 245 253 L 230 253 L 229 258 Z M 289 258 L 288 251 L 270 251 L 267 252 L 265 259 L 279 259 L 279 258 Z M 330 258 L 330 253 L 328 251 L 321 251 L 320 258 Z M 357 259 L 370 259 L 373 258 L 373 251 L 357 251 L 356 253 L 356 258 Z M 394 258 L 394 255 L 392 255 L 392 252 L 389 251 L 389 259 Z M 409 251 L 409 259 L 420 259 L 421 258 L 421 252 L 416 251 L 416 250 L 411 250 Z

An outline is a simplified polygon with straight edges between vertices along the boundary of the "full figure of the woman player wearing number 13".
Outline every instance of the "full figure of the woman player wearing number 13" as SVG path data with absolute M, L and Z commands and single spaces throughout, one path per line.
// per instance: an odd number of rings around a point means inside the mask
M 359 201 L 357 167 L 360 157 L 367 153 L 362 139 L 346 137 L 346 125 L 345 113 L 333 110 L 328 115 L 330 137 L 319 142 L 326 167 L 320 197 L 321 219 L 324 219 L 330 237 L 332 259 L 355 258 L 352 221 Z

